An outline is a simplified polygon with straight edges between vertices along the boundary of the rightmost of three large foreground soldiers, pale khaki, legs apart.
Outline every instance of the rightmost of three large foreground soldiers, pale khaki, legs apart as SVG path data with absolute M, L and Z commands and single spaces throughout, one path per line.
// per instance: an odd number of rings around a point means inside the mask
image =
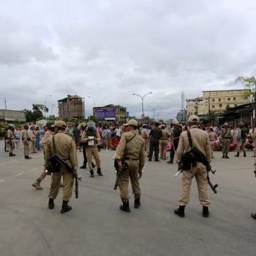
M 199 123 L 198 116 L 192 115 L 189 116 L 189 131 L 192 137 L 193 146 L 195 146 L 198 150 L 200 150 L 203 154 L 206 155 L 208 160 L 211 159 L 211 148 L 208 134 L 197 128 Z M 176 151 L 177 154 L 177 162 L 180 165 L 181 157 L 183 156 L 184 152 L 190 151 L 189 139 L 187 132 L 182 132 L 179 142 L 178 148 Z M 190 187 L 192 184 L 192 178 L 195 177 L 197 181 L 197 188 L 198 188 L 198 197 L 200 203 L 203 205 L 203 217 L 208 217 L 209 211 L 208 206 L 210 206 L 210 201 L 208 200 L 208 180 L 207 180 L 207 170 L 206 166 L 203 165 L 201 162 L 197 162 L 195 167 L 192 167 L 190 170 L 183 170 L 182 175 L 182 182 L 181 182 L 181 198 L 178 200 L 179 208 L 174 210 L 174 213 L 177 214 L 179 217 L 184 217 L 184 209 L 189 203 L 189 194 L 190 194 Z

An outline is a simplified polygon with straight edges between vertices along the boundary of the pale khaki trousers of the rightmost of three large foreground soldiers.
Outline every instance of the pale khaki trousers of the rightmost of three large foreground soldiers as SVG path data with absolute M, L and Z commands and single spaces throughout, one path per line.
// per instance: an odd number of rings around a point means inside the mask
M 189 194 L 190 194 L 190 187 L 192 184 L 192 178 L 197 181 L 197 189 L 198 189 L 198 197 L 200 203 L 203 206 L 210 206 L 210 201 L 208 200 L 208 181 L 207 181 L 207 170 L 206 166 L 203 165 L 201 162 L 198 162 L 192 170 L 184 170 L 181 179 L 181 199 L 178 200 L 179 206 L 187 206 L 189 203 Z

